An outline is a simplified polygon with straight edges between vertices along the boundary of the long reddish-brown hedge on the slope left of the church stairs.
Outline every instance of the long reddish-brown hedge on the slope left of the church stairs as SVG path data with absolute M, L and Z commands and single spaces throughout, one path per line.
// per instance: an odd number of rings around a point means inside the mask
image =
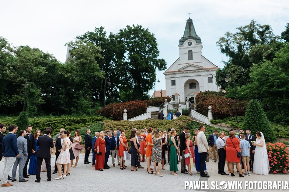
M 128 101 L 123 103 L 110 103 L 105 106 L 105 117 L 112 117 L 114 120 L 123 120 L 124 109 L 127 109 L 127 119 L 139 116 L 147 112 L 148 106 L 159 107 L 162 103 L 171 101 L 170 97 L 155 97 L 149 100 Z M 103 115 L 103 108 L 97 111 L 98 115 Z

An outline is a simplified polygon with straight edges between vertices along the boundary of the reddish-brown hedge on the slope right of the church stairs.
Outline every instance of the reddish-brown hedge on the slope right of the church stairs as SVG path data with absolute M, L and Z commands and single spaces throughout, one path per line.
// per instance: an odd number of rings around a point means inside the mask
M 237 99 L 237 114 L 244 116 L 248 101 Z M 234 99 L 226 98 L 222 92 L 205 91 L 196 97 L 196 111 L 202 115 L 208 116 L 208 106 L 212 107 L 214 119 L 223 119 L 235 115 Z

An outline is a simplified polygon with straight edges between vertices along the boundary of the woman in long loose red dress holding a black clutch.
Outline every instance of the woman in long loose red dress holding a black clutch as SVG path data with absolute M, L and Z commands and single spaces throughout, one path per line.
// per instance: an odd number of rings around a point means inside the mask
M 103 171 L 105 153 L 106 153 L 103 131 L 99 133 L 99 137 L 97 138 L 95 145 L 94 145 L 94 151 L 96 152 L 95 153 L 95 170 Z

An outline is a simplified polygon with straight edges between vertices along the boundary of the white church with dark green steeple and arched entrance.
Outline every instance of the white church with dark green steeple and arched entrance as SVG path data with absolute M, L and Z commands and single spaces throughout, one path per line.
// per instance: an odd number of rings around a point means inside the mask
M 202 55 L 203 45 L 197 35 L 193 20 L 186 21 L 183 37 L 179 40 L 179 58 L 165 74 L 165 94 L 172 96 L 173 102 L 185 102 L 200 91 L 218 91 L 215 73 L 218 66 Z

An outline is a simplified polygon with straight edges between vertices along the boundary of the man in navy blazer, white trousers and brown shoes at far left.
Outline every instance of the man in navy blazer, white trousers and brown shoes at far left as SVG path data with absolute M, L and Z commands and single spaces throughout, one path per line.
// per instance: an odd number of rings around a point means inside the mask
M 19 157 L 19 151 L 17 147 L 17 137 L 15 133 L 15 126 L 10 125 L 8 127 L 9 133 L 3 138 L 2 140 L 2 150 L 3 156 L 5 157 L 4 160 L 4 171 L 3 171 L 3 181 L 2 187 L 9 187 L 13 184 L 8 182 L 8 175 L 9 172 L 16 160 L 16 157 Z

